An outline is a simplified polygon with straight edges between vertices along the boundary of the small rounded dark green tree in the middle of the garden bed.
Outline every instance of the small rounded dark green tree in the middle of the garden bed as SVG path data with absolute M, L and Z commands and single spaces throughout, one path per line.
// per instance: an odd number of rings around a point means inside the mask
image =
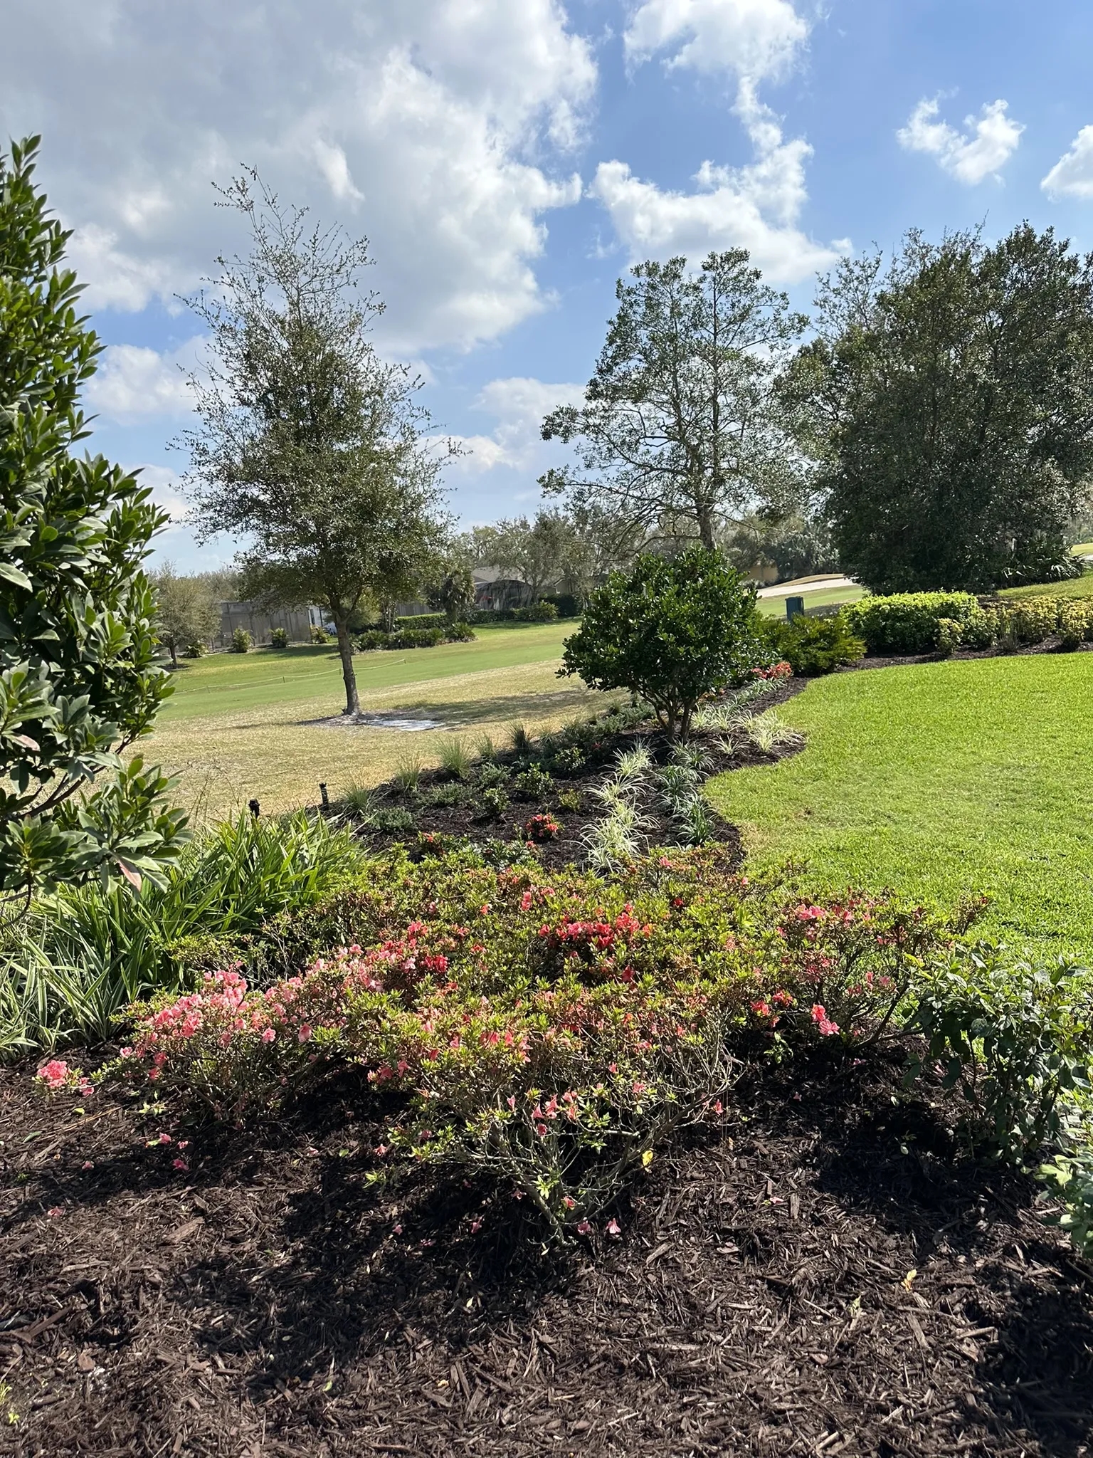
M 772 662 L 755 627 L 755 588 L 717 551 L 692 547 L 673 561 L 641 553 L 589 596 L 567 639 L 560 675 L 589 688 L 628 688 L 657 712 L 669 738 L 686 739 L 698 703 Z

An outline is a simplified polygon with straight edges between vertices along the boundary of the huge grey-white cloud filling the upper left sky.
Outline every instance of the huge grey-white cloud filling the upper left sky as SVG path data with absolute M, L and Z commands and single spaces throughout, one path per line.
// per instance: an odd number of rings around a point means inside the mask
M 546 305 L 544 217 L 580 195 L 595 86 L 561 0 L 38 0 L 6 17 L 0 131 L 42 131 L 92 308 L 192 290 L 243 242 L 210 182 L 251 163 L 369 235 L 410 353 Z

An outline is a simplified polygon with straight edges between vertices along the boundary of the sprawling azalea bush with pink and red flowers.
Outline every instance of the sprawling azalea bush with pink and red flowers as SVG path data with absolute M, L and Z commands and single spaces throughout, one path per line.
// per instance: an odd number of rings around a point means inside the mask
M 357 1067 L 377 1158 L 488 1171 L 563 1231 L 673 1127 L 717 1117 L 756 1038 L 892 1035 L 912 968 L 953 935 L 886 901 L 797 903 L 720 846 L 615 884 L 461 856 L 386 866 L 328 908 L 357 942 L 264 987 L 235 965 L 138 1005 L 108 1077 L 245 1123 Z

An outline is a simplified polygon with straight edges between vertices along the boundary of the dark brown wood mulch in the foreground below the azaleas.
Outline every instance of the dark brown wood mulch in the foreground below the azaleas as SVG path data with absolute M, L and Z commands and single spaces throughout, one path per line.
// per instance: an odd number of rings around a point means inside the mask
M 175 1171 L 9 1070 L 0 1454 L 1080 1458 L 1090 1273 L 895 1075 L 774 1070 L 554 1255 L 512 1198 L 372 1185 L 350 1086 Z

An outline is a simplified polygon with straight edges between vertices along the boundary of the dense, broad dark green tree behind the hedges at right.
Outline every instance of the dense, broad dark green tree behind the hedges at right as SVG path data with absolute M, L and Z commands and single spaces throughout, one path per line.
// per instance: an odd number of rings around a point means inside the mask
M 874 592 L 1071 570 L 1093 475 L 1093 255 L 1051 229 L 909 233 L 820 280 L 799 410 L 844 570 Z

